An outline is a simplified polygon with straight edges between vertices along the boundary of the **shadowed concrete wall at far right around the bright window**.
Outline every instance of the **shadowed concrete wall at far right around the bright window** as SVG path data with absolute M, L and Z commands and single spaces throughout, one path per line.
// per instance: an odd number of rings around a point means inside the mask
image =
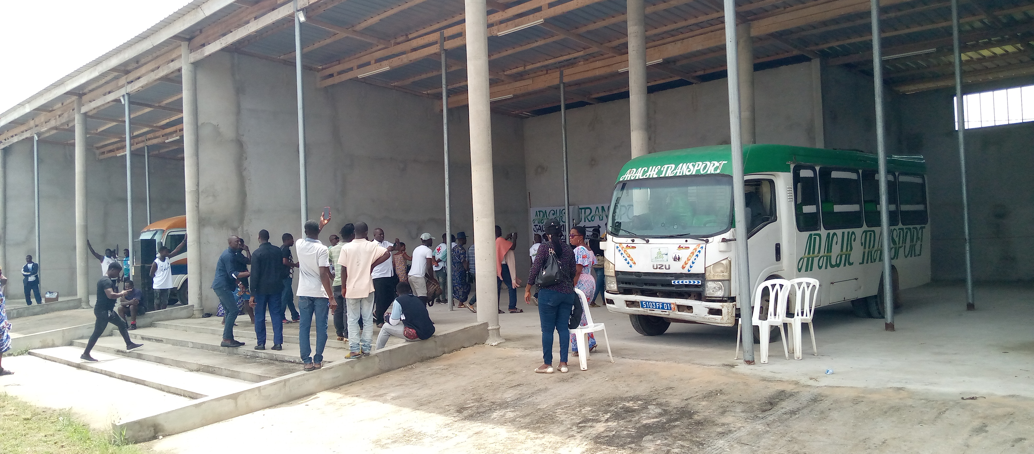
M 1034 84 L 1018 78 L 971 84 L 966 93 Z M 930 180 L 934 279 L 965 277 L 963 206 L 954 89 L 901 96 L 902 144 L 926 158 Z M 1034 276 L 1034 123 L 966 130 L 973 275 L 977 280 L 1029 280 Z

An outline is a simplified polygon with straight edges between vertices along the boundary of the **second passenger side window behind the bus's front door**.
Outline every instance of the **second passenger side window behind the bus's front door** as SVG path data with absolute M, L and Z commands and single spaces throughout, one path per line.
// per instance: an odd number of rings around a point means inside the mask
M 858 171 L 819 169 L 822 228 L 827 231 L 861 226 L 861 184 Z

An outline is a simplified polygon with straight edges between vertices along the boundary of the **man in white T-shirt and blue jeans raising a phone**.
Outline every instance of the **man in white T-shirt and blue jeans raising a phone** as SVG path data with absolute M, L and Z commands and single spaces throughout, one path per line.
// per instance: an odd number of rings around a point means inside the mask
M 298 327 L 299 347 L 303 369 L 306 371 L 323 367 L 323 351 L 327 345 L 327 315 L 337 306 L 331 301 L 330 250 L 320 242 L 320 230 L 329 219 L 305 221 L 305 238 L 295 242 L 298 252 L 298 311 L 301 321 Z M 312 353 L 309 336 L 312 319 L 316 321 L 316 353 Z

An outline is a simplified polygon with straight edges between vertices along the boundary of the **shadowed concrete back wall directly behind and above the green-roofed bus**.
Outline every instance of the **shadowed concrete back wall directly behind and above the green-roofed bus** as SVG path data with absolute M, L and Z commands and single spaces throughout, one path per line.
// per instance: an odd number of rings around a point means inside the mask
M 756 133 L 761 144 L 813 147 L 817 140 L 813 65 L 755 73 Z M 729 143 L 726 80 L 649 95 L 650 152 Z M 531 207 L 564 205 L 559 113 L 524 120 L 524 155 Z M 610 202 L 618 171 L 630 159 L 629 101 L 568 111 L 572 205 Z M 519 232 L 527 232 L 525 224 Z

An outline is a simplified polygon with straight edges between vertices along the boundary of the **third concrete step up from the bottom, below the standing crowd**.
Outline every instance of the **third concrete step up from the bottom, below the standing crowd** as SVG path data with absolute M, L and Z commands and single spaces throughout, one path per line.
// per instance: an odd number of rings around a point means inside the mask
M 173 330 L 169 328 L 141 328 L 129 332 L 129 337 L 133 339 L 139 339 L 141 342 L 153 342 L 153 343 L 164 343 L 169 345 L 186 346 L 190 349 L 207 350 L 210 352 L 219 352 L 229 355 L 239 355 L 248 356 L 252 358 L 262 358 L 273 361 L 283 361 L 287 363 L 301 364 L 302 359 L 298 354 L 297 349 L 291 346 L 283 351 L 277 352 L 273 350 L 257 351 L 253 350 L 254 341 L 240 346 L 237 349 L 231 349 L 226 346 L 219 346 L 222 341 L 222 336 L 218 334 L 205 334 L 196 333 L 190 331 Z M 291 344 L 288 344 L 291 345 Z M 267 347 L 272 346 L 267 344 Z M 324 362 L 342 361 L 346 359 L 348 351 L 336 347 L 327 347 L 324 351 Z

